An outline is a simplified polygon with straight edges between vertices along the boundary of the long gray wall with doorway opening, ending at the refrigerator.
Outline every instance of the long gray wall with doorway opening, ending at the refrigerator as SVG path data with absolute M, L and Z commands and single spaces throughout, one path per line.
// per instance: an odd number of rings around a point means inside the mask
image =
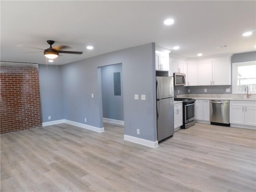
M 62 66 L 64 119 L 103 127 L 98 67 L 122 63 L 125 134 L 156 141 L 155 44 L 118 50 Z M 99 88 L 100 87 L 100 88 Z M 91 94 L 94 98 L 91 98 Z M 146 94 L 146 100 L 134 100 Z M 136 129 L 140 129 L 140 135 Z

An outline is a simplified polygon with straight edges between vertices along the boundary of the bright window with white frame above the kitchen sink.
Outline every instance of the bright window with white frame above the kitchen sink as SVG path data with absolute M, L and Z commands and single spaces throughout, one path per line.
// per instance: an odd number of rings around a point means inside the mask
M 232 63 L 232 94 L 256 94 L 256 61 Z

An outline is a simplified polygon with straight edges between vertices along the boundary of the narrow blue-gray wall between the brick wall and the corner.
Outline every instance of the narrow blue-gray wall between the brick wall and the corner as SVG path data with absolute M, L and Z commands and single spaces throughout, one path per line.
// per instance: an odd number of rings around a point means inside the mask
M 42 122 L 63 119 L 62 66 L 38 65 L 42 108 Z M 48 116 L 51 119 L 48 120 Z

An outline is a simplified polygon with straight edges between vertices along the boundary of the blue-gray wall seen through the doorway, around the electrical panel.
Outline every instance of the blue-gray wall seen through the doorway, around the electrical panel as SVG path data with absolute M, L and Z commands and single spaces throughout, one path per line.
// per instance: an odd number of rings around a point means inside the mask
M 114 95 L 114 72 L 120 72 L 121 95 Z M 102 110 L 103 117 L 115 120 L 124 120 L 122 64 L 101 67 Z

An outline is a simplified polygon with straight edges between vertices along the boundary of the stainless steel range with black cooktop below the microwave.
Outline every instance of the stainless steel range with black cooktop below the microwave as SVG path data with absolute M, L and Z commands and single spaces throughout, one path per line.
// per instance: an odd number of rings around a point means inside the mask
M 183 125 L 180 126 L 182 129 L 187 129 L 193 126 L 195 120 L 195 101 L 192 98 L 175 98 L 175 101 L 182 101 L 183 106 Z

